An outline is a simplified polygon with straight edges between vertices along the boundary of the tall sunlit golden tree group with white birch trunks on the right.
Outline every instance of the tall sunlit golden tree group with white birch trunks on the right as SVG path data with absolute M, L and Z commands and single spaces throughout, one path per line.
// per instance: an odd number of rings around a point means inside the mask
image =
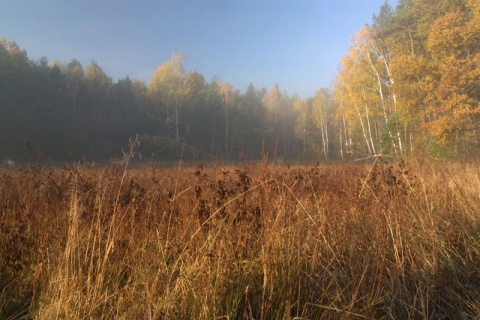
M 480 2 L 385 2 L 355 34 L 333 96 L 345 152 L 478 155 Z

